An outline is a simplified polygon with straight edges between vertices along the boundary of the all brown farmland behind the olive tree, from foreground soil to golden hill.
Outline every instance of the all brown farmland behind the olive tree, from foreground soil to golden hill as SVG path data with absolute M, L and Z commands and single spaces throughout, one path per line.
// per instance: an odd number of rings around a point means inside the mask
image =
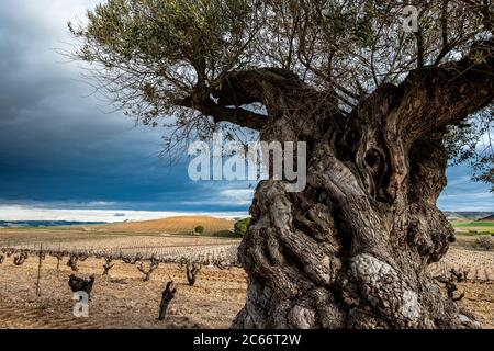
M 182 223 L 182 225 L 181 225 Z M 204 235 L 193 235 L 203 225 Z M 207 227 L 210 228 L 207 230 Z M 238 268 L 239 240 L 228 231 L 232 220 L 204 217 L 147 223 L 0 230 L 0 328 L 227 328 L 243 307 L 246 274 Z M 459 283 L 460 304 L 471 309 L 484 328 L 494 327 L 494 252 L 472 246 L 474 235 L 458 235 L 430 274 L 465 271 Z M 40 252 L 45 254 L 40 265 Z M 27 257 L 22 264 L 14 261 Z M 72 261 L 74 260 L 74 261 Z M 68 265 L 67 263 L 70 263 Z M 143 271 L 156 262 L 149 281 Z M 186 265 L 201 270 L 191 286 Z M 108 274 L 103 274 L 108 270 Z M 40 296 L 36 294 L 37 275 Z M 90 317 L 72 315 L 68 276 L 96 274 Z M 165 321 L 158 321 L 161 292 L 175 281 L 177 296 Z

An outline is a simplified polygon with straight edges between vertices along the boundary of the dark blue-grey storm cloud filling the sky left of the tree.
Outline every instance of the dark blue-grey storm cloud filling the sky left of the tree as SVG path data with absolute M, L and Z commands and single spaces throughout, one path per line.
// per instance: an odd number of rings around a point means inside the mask
M 66 22 L 93 3 L 2 2 L 0 199 L 147 208 L 211 199 L 188 181 L 186 165 L 169 169 L 158 158 L 159 131 L 104 114 L 78 65 L 57 53 L 69 47 Z

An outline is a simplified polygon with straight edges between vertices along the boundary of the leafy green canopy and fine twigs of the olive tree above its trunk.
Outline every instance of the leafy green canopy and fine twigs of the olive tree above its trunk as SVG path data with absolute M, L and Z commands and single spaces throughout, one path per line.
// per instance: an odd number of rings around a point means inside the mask
M 419 11 L 415 33 L 403 30 L 406 5 Z M 218 124 L 231 138 L 242 138 L 237 126 L 258 129 L 263 101 L 218 93 L 234 72 L 293 72 L 349 114 L 378 88 L 491 39 L 493 11 L 491 1 L 475 0 L 108 0 L 69 29 L 80 39 L 72 57 L 91 64 L 88 71 L 119 107 L 169 128 L 170 151 L 210 137 Z M 485 138 L 493 106 L 471 121 L 450 126 L 445 141 L 452 158 L 473 160 L 478 180 L 493 183 Z

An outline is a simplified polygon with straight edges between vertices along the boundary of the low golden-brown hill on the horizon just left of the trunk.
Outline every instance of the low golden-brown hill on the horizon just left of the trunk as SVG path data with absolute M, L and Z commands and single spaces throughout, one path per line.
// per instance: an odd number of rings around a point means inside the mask
M 205 233 L 233 230 L 235 220 L 209 216 L 182 216 L 146 222 L 125 222 L 102 226 L 108 231 L 127 233 L 193 233 L 198 226 L 203 226 Z

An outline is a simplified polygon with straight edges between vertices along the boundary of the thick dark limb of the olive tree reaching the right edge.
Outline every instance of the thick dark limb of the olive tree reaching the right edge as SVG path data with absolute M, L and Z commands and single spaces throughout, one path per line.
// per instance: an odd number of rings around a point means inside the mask
M 460 123 L 493 99 L 494 42 L 483 41 L 459 61 L 416 69 L 398 87 L 380 87 L 351 115 L 358 123 L 384 121 L 385 129 L 409 146 L 422 135 Z

